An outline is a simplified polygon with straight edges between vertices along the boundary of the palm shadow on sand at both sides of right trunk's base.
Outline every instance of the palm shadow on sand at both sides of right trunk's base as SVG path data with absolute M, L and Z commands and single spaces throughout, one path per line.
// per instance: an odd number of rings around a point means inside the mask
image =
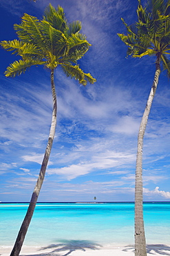
M 123 251 L 127 252 L 129 250 L 134 250 L 134 246 L 126 246 L 127 248 Z M 170 246 L 165 244 L 147 244 L 147 253 L 155 255 L 169 255 L 170 256 Z

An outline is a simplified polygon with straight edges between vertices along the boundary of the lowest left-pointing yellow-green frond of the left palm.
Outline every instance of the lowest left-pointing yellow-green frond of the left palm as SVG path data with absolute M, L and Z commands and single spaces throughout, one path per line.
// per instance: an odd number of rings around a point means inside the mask
M 45 62 L 37 61 L 37 60 L 19 60 L 15 61 L 5 71 L 5 75 L 7 77 L 15 77 L 16 75 L 21 75 L 21 73 L 25 73 L 27 68 L 33 65 L 41 65 L 45 64 Z

